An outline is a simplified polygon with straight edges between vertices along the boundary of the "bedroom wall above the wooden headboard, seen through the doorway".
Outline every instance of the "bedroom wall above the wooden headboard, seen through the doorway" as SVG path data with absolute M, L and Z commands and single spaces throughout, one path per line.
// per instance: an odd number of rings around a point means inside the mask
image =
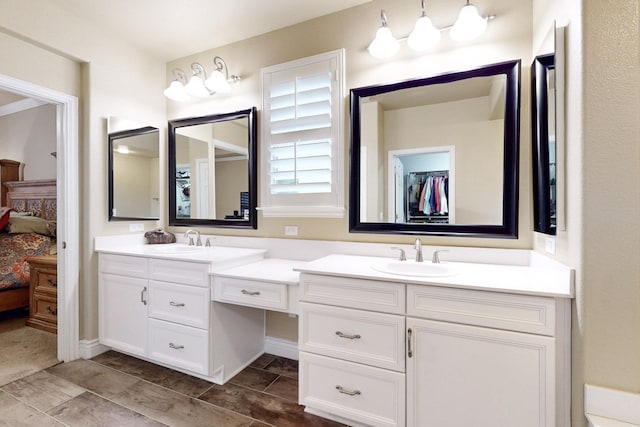
M 23 179 L 55 179 L 56 107 L 42 105 L 0 117 L 2 158 L 25 164 Z

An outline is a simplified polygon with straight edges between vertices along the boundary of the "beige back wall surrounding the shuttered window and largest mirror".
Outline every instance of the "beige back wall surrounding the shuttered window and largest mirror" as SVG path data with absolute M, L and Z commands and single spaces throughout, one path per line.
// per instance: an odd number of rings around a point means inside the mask
M 233 85 L 231 94 L 215 95 L 205 100 L 179 104 L 169 101 L 169 118 L 200 116 L 260 107 L 260 69 L 265 66 L 344 48 L 346 51 L 346 87 L 353 88 L 380 82 L 393 82 L 407 78 L 423 77 L 435 73 L 469 68 L 472 65 L 489 64 L 507 60 L 523 59 L 523 82 L 528 81 L 528 67 L 531 62 L 531 2 L 518 0 L 510 2 L 509 13 L 501 18 L 497 28 L 506 33 L 488 37 L 473 48 L 455 48 L 444 43 L 443 48 L 431 55 L 417 55 L 403 44 L 401 52 L 393 60 L 383 61 L 371 57 L 366 51 L 379 25 L 380 9 L 384 8 L 393 16 L 394 32 L 400 36 L 408 34 L 419 12 L 413 0 L 372 1 L 346 11 L 314 19 L 299 25 L 274 31 L 259 37 L 231 45 L 212 49 L 189 57 L 181 58 L 167 65 L 166 83 L 171 81 L 174 67 L 187 70 L 192 62 L 200 62 L 209 70 L 212 59 L 218 55 L 224 58 L 229 71 L 238 74 L 242 80 Z M 493 24 L 492 24 L 493 25 Z M 530 150 L 529 142 L 529 86 L 522 85 L 523 113 L 521 115 L 521 181 L 520 181 L 520 238 L 509 239 L 469 239 L 424 236 L 423 242 L 433 245 L 492 246 L 528 248 L 531 247 L 531 190 L 530 190 Z M 348 93 L 345 93 L 345 135 L 343 157 L 345 159 L 345 198 L 348 197 Z M 345 201 L 345 205 L 346 205 Z M 216 229 L 216 234 L 239 234 L 248 236 L 285 237 L 284 225 L 297 225 L 299 238 L 320 240 L 350 240 L 393 242 L 410 244 L 414 237 L 381 234 L 351 234 L 348 220 L 343 219 L 295 219 L 258 217 L 257 230 Z M 209 231 L 201 229 L 200 231 Z M 210 231 L 209 231 L 210 232 Z

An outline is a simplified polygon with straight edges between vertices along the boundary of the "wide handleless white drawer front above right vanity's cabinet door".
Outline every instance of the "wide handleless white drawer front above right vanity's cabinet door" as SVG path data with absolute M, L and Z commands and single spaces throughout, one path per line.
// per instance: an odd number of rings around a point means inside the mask
M 499 292 L 407 286 L 407 315 L 553 336 L 555 299 Z

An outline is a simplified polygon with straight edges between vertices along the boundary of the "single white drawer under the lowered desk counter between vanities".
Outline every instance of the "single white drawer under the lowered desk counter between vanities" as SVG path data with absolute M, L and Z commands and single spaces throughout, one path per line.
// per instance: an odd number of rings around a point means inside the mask
M 213 299 L 270 310 L 287 310 L 287 285 L 214 276 Z

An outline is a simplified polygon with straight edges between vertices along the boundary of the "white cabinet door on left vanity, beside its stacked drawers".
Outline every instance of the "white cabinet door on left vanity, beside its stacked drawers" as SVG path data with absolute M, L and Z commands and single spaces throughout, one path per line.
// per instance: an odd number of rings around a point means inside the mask
M 147 349 L 148 281 L 100 274 L 100 343 L 134 355 Z

